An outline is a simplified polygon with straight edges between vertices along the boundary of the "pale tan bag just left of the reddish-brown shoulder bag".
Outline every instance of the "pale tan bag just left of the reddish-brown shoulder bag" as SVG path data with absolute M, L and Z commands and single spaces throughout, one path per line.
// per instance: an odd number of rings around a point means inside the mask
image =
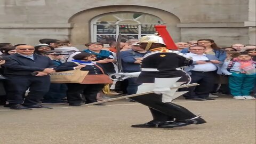
M 81 83 L 89 71 L 68 70 L 50 74 L 51 83 Z

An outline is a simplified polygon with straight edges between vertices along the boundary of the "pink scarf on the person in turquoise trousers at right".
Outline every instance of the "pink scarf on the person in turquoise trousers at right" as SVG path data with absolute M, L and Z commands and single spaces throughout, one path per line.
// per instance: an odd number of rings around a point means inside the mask
M 234 59 L 235 62 L 240 63 L 240 68 L 242 70 L 242 73 L 245 73 L 246 75 L 254 75 L 256 74 L 255 71 L 255 61 L 253 60 L 238 60 L 237 58 Z

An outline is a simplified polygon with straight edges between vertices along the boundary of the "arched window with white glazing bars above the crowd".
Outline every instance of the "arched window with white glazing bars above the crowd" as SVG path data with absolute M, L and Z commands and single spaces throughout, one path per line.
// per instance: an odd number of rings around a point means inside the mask
M 109 44 L 116 41 L 119 33 L 122 41 L 154 34 L 155 25 L 163 24 L 158 17 L 146 13 L 124 12 L 100 15 L 92 20 L 92 42 Z

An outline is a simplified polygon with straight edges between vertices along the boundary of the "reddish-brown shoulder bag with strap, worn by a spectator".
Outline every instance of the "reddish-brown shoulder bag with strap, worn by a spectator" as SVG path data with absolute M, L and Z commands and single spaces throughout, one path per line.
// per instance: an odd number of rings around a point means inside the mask
M 86 75 L 83 82 L 81 84 L 111 84 L 113 81 L 109 78 L 108 75 L 104 73 L 101 67 L 98 67 L 103 74 L 101 75 Z

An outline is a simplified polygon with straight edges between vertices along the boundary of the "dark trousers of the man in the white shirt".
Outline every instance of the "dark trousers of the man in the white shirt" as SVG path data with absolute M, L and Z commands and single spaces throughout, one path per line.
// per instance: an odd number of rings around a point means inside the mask
M 209 93 L 213 91 L 216 75 L 216 71 L 206 73 L 191 71 L 191 83 L 198 83 L 199 85 L 181 89 L 181 91 L 188 91 L 183 94 L 183 97 L 188 99 L 209 97 Z

